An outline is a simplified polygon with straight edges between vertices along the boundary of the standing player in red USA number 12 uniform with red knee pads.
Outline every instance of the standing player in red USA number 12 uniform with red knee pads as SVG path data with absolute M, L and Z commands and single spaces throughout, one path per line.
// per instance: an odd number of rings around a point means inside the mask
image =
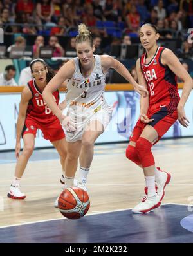
M 192 78 L 171 50 L 158 47 L 158 38 L 154 25 L 145 24 L 140 28 L 145 54 L 136 62 L 136 69 L 139 83 L 147 87 L 149 97 L 140 99 L 140 119 L 131 134 L 126 156 L 143 168 L 147 197 L 133 208 L 133 213 L 148 213 L 161 205 L 170 174 L 155 167 L 151 147 L 177 119 L 184 127 L 188 127 L 189 122 L 184 106 L 192 90 Z M 181 100 L 177 74 L 184 81 Z

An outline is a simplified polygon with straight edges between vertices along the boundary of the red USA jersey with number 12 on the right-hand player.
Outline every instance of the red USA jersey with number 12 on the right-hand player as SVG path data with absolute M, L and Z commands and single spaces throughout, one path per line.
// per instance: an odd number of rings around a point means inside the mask
M 161 54 L 165 48 L 158 47 L 152 60 L 146 64 L 146 53 L 140 58 L 140 65 L 149 91 L 149 105 L 168 102 L 168 111 L 176 109 L 179 102 L 177 77 L 161 63 Z

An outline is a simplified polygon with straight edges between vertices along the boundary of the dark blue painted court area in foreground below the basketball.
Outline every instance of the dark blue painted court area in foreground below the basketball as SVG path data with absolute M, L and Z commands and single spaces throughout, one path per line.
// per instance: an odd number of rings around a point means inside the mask
M 146 215 L 131 210 L 87 215 L 79 220 L 50 220 L 0 229 L 0 242 L 148 243 L 193 242 L 183 228 L 187 206 L 167 204 Z

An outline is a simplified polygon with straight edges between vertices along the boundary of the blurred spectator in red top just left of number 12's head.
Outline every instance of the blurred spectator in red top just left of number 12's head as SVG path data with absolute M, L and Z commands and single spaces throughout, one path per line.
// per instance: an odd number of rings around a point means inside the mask
M 127 27 L 131 32 L 137 32 L 140 27 L 140 15 L 136 10 L 136 6 L 131 6 L 131 12 L 127 14 L 126 18 Z

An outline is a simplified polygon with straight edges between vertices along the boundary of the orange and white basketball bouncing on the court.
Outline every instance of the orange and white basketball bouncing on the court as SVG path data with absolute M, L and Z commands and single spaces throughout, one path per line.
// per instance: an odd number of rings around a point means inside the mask
M 89 196 L 79 187 L 64 189 L 59 197 L 59 210 L 68 219 L 80 219 L 90 207 Z

